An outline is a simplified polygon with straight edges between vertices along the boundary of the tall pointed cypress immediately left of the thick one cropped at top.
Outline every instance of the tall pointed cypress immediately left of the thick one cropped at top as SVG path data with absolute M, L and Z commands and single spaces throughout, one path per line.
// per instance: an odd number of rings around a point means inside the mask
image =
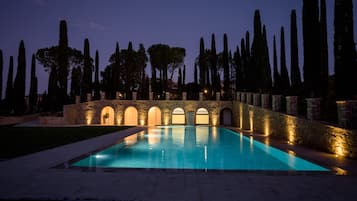
M 291 95 L 300 95 L 301 75 L 299 68 L 299 51 L 297 39 L 297 24 L 296 24 L 296 10 L 291 11 L 290 17 L 290 79 L 291 79 Z

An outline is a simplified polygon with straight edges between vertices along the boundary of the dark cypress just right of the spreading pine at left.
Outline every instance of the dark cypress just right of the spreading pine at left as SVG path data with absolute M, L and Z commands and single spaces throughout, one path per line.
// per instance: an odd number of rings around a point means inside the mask
M 84 40 L 83 49 L 83 77 L 81 82 L 81 99 L 85 101 L 87 99 L 87 94 L 92 94 L 92 68 L 93 64 L 90 58 L 90 47 L 89 40 L 86 38 Z

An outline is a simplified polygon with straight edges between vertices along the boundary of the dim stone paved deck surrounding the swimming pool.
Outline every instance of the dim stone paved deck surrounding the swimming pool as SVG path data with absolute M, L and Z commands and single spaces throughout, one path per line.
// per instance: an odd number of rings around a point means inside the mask
M 144 128 L 131 128 L 2 161 L 0 162 L 0 200 L 339 201 L 357 199 L 357 161 L 274 140 L 269 140 L 269 143 L 280 149 L 293 151 L 325 167 L 334 168 L 334 172 L 297 174 L 149 169 L 83 171 L 53 168 L 142 129 Z M 259 135 L 254 138 L 265 140 Z M 349 175 L 340 176 L 334 173 Z

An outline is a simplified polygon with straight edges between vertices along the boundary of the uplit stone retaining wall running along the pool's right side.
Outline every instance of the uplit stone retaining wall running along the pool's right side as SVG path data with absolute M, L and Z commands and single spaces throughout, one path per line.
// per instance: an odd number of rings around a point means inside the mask
M 319 121 L 286 115 L 241 102 L 233 104 L 237 127 L 306 145 L 322 151 L 357 158 L 357 132 Z

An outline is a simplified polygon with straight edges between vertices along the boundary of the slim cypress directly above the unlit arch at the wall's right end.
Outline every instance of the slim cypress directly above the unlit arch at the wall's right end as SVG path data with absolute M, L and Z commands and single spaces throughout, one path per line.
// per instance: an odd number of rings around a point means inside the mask
M 229 79 L 229 55 L 227 34 L 223 35 L 223 93 L 226 98 L 230 97 L 230 79 Z

